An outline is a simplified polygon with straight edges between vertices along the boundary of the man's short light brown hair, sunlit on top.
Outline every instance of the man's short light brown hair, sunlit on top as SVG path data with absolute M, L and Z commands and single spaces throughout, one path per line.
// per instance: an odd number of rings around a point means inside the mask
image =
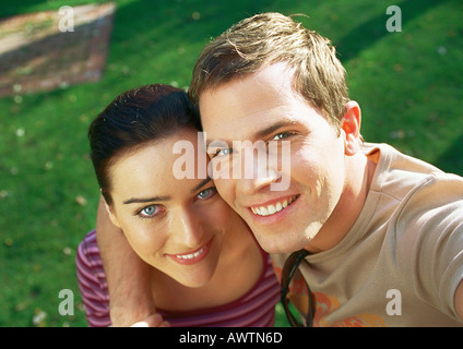
M 294 72 L 293 87 L 337 130 L 348 101 L 345 69 L 331 41 L 281 13 L 245 19 L 212 40 L 193 70 L 190 97 L 276 62 Z

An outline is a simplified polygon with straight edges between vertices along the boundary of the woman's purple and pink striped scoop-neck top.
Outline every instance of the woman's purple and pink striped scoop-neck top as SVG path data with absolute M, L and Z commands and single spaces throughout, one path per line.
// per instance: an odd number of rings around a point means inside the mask
M 262 250 L 261 250 L 262 251 Z M 228 304 L 189 312 L 158 310 L 173 327 L 270 327 L 275 321 L 280 284 L 270 256 L 262 251 L 263 269 L 256 285 L 238 300 Z M 95 230 L 79 244 L 76 253 L 79 288 L 92 327 L 110 326 L 109 293 Z M 230 270 L 233 273 L 233 270 Z

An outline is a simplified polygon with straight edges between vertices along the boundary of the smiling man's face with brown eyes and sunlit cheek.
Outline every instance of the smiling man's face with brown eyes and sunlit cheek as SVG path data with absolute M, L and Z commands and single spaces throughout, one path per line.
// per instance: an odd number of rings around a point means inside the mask
M 307 246 L 333 213 L 345 182 L 344 136 L 290 84 L 286 65 L 276 63 L 207 89 L 200 98 L 207 154 L 225 168 L 249 160 L 242 159 L 245 146 L 234 147 L 234 142 L 290 142 L 289 161 L 280 161 L 280 168 L 268 163 L 262 171 L 258 164 L 252 178 L 214 178 L 223 198 L 271 253 Z M 228 146 L 216 147 L 214 141 Z M 285 190 L 272 190 L 285 176 L 290 179 Z

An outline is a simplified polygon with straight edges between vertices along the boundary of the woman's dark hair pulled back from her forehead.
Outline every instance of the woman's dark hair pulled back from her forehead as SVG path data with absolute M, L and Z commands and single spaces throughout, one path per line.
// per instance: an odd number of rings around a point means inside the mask
M 185 128 L 200 130 L 200 119 L 180 88 L 155 84 L 116 97 L 88 129 L 91 158 L 106 202 L 112 204 L 108 169 L 118 156 Z

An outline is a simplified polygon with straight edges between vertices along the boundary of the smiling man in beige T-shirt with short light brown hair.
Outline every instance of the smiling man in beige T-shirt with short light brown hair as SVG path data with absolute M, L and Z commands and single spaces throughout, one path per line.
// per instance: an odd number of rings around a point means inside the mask
M 278 13 L 246 19 L 203 50 L 190 95 L 213 164 L 290 142 L 289 167 L 214 181 L 274 254 L 293 325 L 463 325 L 463 179 L 363 144 L 328 39 Z M 271 190 L 284 177 L 288 188 Z

